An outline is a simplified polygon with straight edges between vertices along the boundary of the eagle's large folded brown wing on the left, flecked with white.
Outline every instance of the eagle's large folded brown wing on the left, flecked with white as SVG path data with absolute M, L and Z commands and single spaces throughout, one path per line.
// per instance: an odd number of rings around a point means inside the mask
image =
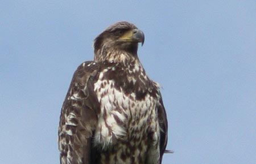
M 93 81 L 99 66 L 84 62 L 76 70 L 61 108 L 59 150 L 61 164 L 91 164 L 91 137 L 100 105 Z

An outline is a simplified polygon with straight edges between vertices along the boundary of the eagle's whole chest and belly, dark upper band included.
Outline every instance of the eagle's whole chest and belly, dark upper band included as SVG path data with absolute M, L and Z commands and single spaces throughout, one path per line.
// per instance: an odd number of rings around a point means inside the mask
M 105 63 L 94 91 L 100 102 L 94 145 L 101 162 L 144 163 L 148 142 L 159 143 L 158 87 L 141 64 Z

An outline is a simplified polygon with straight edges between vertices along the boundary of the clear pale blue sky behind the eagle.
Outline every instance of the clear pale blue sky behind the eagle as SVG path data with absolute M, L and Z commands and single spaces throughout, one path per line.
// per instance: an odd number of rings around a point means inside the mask
M 110 24 L 142 29 L 163 89 L 164 164 L 256 163 L 255 1 L 0 1 L 0 163 L 59 163 L 73 72 Z

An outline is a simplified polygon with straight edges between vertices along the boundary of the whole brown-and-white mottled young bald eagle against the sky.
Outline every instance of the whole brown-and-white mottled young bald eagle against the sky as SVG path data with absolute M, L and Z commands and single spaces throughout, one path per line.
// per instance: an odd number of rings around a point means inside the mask
M 94 61 L 77 68 L 61 109 L 61 164 L 162 163 L 167 116 L 139 42 L 143 32 L 126 21 L 94 40 Z

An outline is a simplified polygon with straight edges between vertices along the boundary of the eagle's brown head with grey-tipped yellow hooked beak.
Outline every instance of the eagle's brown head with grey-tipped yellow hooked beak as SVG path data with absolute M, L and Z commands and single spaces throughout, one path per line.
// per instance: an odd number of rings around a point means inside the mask
M 144 33 L 134 24 L 127 21 L 115 23 L 95 38 L 93 45 L 95 59 L 108 60 L 114 54 L 123 53 L 137 56 L 139 42 L 143 45 Z

